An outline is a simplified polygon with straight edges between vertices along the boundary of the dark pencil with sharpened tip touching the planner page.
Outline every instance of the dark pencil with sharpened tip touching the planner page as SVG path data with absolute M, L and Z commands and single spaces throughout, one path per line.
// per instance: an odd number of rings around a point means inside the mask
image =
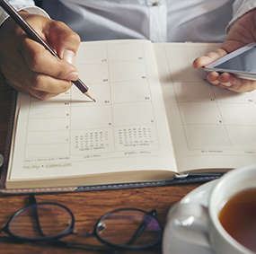
M 40 38 L 39 34 L 34 31 L 31 26 L 28 24 L 28 22 L 24 21 L 22 19 L 22 16 L 16 12 L 16 10 L 13 8 L 13 6 L 11 4 L 9 4 L 8 2 L 6 2 L 5 0 L 0 0 L 0 6 L 4 9 L 4 11 L 6 13 L 8 13 L 14 22 L 16 22 L 23 31 L 25 31 L 27 33 L 27 35 L 37 41 L 38 43 L 40 43 L 41 45 L 43 45 L 45 48 L 47 48 L 49 50 L 49 52 L 54 56 L 57 57 L 57 59 L 60 59 L 55 52 L 49 47 L 49 45 Z M 72 81 L 73 83 L 75 83 L 75 86 L 81 91 L 83 92 L 87 97 L 89 97 L 90 99 L 92 99 L 93 101 L 95 101 L 95 99 L 93 98 L 92 94 L 89 92 L 89 88 L 85 85 L 85 83 L 78 78 L 75 81 Z

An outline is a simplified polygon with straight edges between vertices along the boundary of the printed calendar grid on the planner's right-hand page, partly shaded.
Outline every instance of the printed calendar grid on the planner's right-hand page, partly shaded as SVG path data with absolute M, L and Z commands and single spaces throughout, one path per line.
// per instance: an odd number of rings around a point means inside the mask
M 186 50 L 183 57 L 175 55 L 175 50 L 181 52 L 181 45 L 176 49 L 165 46 L 164 54 L 188 151 L 193 154 L 207 151 L 235 155 L 256 153 L 256 141 L 246 131 L 249 127 L 256 131 L 256 120 L 245 117 L 250 110 L 256 118 L 253 92 L 237 93 L 216 88 L 206 81 L 202 69 L 191 67 L 193 60 L 210 48 L 187 46 L 182 48 Z

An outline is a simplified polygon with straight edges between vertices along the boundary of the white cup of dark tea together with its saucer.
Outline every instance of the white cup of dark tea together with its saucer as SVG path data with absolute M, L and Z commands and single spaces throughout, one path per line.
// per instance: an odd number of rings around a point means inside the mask
M 206 200 L 194 195 L 172 206 L 163 254 L 256 254 L 256 164 L 208 184 L 197 192 Z

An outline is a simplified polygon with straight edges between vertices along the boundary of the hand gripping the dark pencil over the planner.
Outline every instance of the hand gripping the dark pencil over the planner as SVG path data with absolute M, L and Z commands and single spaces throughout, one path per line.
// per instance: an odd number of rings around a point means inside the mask
M 23 11 L 20 14 L 61 59 L 29 39 L 8 18 L 0 30 L 0 66 L 6 82 L 41 100 L 66 92 L 78 78 L 74 64 L 79 36 L 62 22 Z

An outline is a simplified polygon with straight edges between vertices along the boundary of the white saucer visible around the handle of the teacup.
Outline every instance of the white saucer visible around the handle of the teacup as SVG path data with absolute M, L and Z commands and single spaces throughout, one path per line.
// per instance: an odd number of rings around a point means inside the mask
M 181 199 L 181 203 L 195 202 L 207 207 L 209 192 L 216 181 L 212 180 L 195 188 Z M 199 236 L 195 233 L 184 232 L 181 237 L 172 229 L 167 230 L 167 228 L 165 227 L 163 234 L 163 254 L 215 254 L 213 250 L 197 244 Z M 187 241 L 184 241 L 185 239 Z

